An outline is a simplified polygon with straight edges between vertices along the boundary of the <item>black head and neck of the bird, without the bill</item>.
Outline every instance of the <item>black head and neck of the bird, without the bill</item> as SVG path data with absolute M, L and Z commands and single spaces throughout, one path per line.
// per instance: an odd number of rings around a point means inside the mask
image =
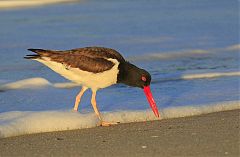
M 150 85 L 151 75 L 146 70 L 126 62 L 119 66 L 118 83 L 144 88 Z

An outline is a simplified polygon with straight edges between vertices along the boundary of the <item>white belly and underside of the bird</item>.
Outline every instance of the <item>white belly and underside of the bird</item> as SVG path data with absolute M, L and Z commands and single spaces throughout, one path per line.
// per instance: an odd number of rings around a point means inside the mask
M 110 70 L 101 73 L 92 73 L 80 70 L 78 68 L 66 67 L 66 65 L 50 61 L 47 58 L 45 58 L 44 60 L 36 60 L 48 66 L 50 69 L 52 69 L 56 73 L 59 73 L 66 79 L 87 86 L 94 90 L 97 90 L 99 88 L 105 88 L 117 83 L 119 62 L 116 59 L 108 59 L 114 63 L 114 66 Z

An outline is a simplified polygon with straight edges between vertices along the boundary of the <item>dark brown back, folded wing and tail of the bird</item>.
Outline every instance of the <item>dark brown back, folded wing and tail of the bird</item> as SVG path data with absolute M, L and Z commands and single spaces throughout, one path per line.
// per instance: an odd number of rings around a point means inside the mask
M 27 59 L 48 57 L 51 61 L 59 62 L 67 67 L 79 68 L 84 71 L 100 73 L 111 69 L 114 63 L 107 60 L 116 59 L 119 62 L 124 58 L 117 51 L 103 47 L 86 47 L 67 51 L 52 51 L 42 49 L 29 49 L 37 53 L 27 55 Z

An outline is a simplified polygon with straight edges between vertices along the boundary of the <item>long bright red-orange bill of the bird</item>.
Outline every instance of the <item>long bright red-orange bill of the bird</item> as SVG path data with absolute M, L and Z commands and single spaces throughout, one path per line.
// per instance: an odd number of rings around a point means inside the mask
M 156 117 L 159 117 L 158 108 L 157 108 L 157 105 L 155 103 L 155 100 L 153 99 L 150 86 L 144 86 L 143 91 L 144 91 L 144 93 L 145 93 L 145 95 L 146 95 L 146 97 L 148 99 L 148 102 L 150 104 L 150 107 L 153 110 L 153 113 L 155 114 Z

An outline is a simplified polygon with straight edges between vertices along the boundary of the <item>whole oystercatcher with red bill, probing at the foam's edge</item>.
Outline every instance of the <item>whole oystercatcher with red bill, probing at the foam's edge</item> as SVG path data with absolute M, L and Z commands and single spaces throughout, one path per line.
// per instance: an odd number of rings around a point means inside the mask
M 116 83 L 142 88 L 155 116 L 159 117 L 150 90 L 151 75 L 147 71 L 127 62 L 116 50 L 104 47 L 85 47 L 66 51 L 28 50 L 36 54 L 27 55 L 24 58 L 41 62 L 66 79 L 82 85 L 81 91 L 76 96 L 73 110 L 78 110 L 82 95 L 88 88 L 91 88 L 91 104 L 102 126 L 115 123 L 102 120 L 97 108 L 96 92 L 98 89 Z

